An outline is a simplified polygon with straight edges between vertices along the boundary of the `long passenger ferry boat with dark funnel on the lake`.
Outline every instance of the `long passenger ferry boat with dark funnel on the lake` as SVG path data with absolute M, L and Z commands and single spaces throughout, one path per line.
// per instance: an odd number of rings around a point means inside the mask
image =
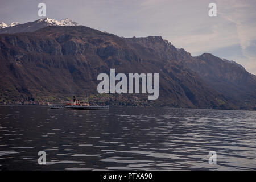
M 88 101 L 78 101 L 73 96 L 73 102 L 64 104 L 48 104 L 51 109 L 81 109 L 81 110 L 109 110 L 109 106 L 90 106 Z

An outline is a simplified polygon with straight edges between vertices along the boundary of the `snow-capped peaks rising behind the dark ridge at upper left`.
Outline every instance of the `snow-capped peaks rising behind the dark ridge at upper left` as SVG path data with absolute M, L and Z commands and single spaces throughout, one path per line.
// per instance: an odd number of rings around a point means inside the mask
M 13 22 L 7 26 L 5 23 L 0 24 L 0 34 L 13 34 L 18 32 L 33 32 L 40 28 L 48 26 L 77 26 L 78 23 L 73 22 L 71 19 L 55 20 L 49 18 L 42 18 L 34 22 L 18 23 Z

